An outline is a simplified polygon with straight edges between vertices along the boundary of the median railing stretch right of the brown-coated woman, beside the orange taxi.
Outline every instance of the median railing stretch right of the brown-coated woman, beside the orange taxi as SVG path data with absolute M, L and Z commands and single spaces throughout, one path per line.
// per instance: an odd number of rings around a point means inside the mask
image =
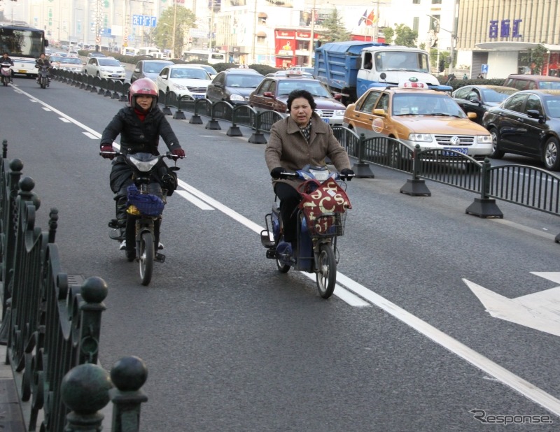
M 400 192 L 430 196 L 424 179 L 479 194 L 465 213 L 499 217 L 496 199 L 560 216 L 560 176 L 542 168 L 524 165 L 491 166 L 490 159 L 477 161 L 455 150 L 421 150 L 394 138 L 365 138 L 351 129 L 334 126 L 337 140 L 358 162 L 385 166 L 412 174 Z M 355 170 L 356 171 L 356 170 Z M 555 238 L 560 243 L 560 234 Z

